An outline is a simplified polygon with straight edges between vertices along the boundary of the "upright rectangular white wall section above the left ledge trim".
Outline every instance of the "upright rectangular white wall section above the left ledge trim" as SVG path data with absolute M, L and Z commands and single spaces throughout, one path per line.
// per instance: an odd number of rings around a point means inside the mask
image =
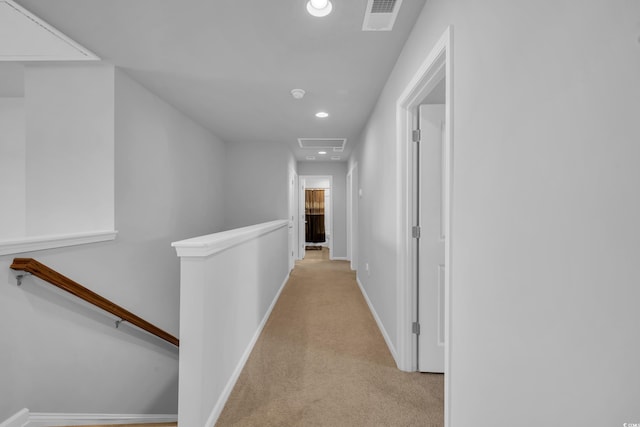
M 25 67 L 25 109 L 27 235 L 113 230 L 113 66 Z

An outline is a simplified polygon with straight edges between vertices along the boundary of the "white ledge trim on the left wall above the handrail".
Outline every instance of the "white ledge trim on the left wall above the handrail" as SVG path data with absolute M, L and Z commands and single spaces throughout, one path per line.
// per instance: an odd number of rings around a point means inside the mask
M 62 248 L 65 246 L 106 242 L 114 240 L 117 234 L 118 232 L 115 230 L 101 230 L 86 233 L 22 237 L 14 240 L 5 240 L 0 241 L 0 255 L 11 255 L 23 252 L 41 251 L 44 249 Z

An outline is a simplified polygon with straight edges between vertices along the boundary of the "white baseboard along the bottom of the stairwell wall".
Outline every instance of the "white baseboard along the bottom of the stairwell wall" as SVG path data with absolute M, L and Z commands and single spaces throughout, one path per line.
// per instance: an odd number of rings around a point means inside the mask
M 32 413 L 25 427 L 74 426 L 96 424 L 143 424 L 172 423 L 178 421 L 177 414 L 57 414 Z

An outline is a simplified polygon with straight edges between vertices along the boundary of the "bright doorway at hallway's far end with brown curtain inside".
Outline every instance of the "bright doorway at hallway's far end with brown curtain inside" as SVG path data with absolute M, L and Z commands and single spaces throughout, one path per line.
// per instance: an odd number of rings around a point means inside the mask
M 308 250 L 333 253 L 333 177 L 301 175 L 299 258 Z

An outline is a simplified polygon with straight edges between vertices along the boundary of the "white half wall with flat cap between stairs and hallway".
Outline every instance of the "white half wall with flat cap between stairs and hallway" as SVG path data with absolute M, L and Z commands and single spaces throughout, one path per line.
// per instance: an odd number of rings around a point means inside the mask
M 181 262 L 180 425 L 213 427 L 222 412 L 288 278 L 288 225 L 173 244 Z

